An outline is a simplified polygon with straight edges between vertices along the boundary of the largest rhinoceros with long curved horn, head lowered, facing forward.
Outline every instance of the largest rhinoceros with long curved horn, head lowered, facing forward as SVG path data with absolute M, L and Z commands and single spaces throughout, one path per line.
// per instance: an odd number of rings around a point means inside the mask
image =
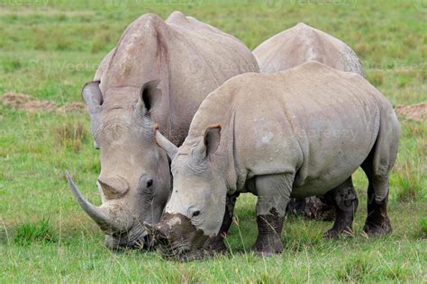
M 250 49 L 183 13 L 166 21 L 144 14 L 124 31 L 82 91 L 101 151 L 102 206 L 86 201 L 68 175 L 108 247 L 151 243 L 142 222 L 159 222 L 171 190 L 168 157 L 157 138 L 182 144 L 206 95 L 245 72 L 259 72 Z M 156 125 L 166 138 L 155 136 Z

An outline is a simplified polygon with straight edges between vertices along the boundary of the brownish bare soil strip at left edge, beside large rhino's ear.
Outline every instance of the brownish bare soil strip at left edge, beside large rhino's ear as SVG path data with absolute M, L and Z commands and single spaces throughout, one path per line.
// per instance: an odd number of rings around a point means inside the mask
M 24 93 L 5 93 L 1 102 L 9 108 L 28 112 L 55 111 L 59 114 L 65 114 L 86 111 L 86 105 L 82 102 L 69 102 L 59 107 L 55 102 L 35 100 L 32 96 Z

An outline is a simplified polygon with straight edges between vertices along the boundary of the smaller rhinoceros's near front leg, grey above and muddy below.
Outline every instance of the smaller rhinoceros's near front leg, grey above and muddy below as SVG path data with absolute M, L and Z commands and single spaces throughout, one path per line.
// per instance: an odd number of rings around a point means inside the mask
M 286 205 L 295 174 L 263 175 L 256 178 L 258 237 L 254 250 L 263 255 L 282 253 L 281 233 Z

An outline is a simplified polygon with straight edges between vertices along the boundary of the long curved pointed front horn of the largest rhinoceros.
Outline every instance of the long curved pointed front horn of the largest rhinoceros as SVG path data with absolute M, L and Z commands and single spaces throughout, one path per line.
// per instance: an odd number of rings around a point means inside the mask
M 73 191 L 73 195 L 76 198 L 77 203 L 83 210 L 85 210 L 87 215 L 89 215 L 89 217 L 91 217 L 95 223 L 101 227 L 105 234 L 111 235 L 116 232 L 120 232 L 120 226 L 117 226 L 117 224 L 115 224 L 115 222 L 111 220 L 110 217 L 105 215 L 103 210 L 95 207 L 89 201 L 87 201 L 81 192 L 78 191 L 77 186 L 74 184 L 68 171 L 65 171 L 65 173 L 67 175 L 68 184 L 71 187 L 71 191 Z

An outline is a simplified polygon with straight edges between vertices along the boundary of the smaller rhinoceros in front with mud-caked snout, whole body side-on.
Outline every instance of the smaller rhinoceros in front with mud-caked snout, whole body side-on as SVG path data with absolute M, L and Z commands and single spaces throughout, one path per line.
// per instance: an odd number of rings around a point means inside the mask
M 351 232 L 350 177 L 361 166 L 369 181 L 364 230 L 390 233 L 388 177 L 399 132 L 390 102 L 360 75 L 318 62 L 238 75 L 200 105 L 184 144 L 168 149 L 173 191 L 149 227 L 167 255 L 203 255 L 222 225 L 226 195 L 251 192 L 258 196 L 254 249 L 280 253 L 290 197 L 331 195 L 336 218 L 325 235 Z

